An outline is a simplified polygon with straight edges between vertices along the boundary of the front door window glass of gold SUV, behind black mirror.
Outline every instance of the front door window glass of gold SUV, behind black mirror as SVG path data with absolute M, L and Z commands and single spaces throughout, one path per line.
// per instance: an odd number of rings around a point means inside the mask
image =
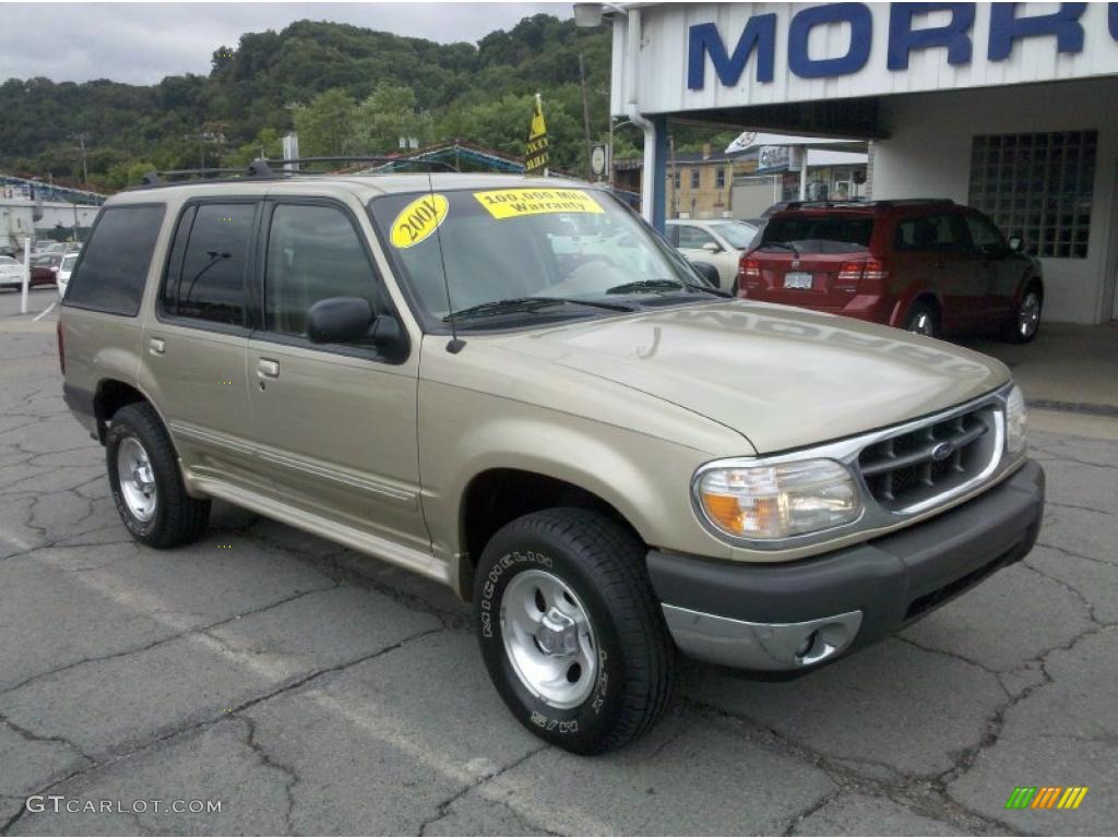
M 305 335 L 306 310 L 330 297 L 364 297 L 377 311 L 377 276 L 359 236 L 333 207 L 277 206 L 268 231 L 265 328 Z

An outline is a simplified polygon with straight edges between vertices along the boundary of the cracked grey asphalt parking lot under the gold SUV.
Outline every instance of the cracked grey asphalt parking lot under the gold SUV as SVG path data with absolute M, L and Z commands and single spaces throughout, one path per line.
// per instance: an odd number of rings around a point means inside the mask
M 650 736 L 588 760 L 512 721 L 466 608 L 433 583 L 229 506 L 189 547 L 133 543 L 63 404 L 55 313 L 15 311 L 0 294 L 2 834 L 1118 823 L 1118 441 L 1034 432 L 1041 546 L 902 636 L 790 683 L 689 667 Z M 1090 791 L 1006 810 L 1020 785 Z M 36 794 L 221 807 L 28 811 Z

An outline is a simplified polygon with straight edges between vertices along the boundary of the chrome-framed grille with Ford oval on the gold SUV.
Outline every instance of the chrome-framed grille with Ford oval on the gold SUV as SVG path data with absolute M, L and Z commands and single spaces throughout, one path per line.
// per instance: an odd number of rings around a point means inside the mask
M 873 498 L 904 512 L 974 479 L 997 455 L 991 404 L 880 439 L 858 464 Z

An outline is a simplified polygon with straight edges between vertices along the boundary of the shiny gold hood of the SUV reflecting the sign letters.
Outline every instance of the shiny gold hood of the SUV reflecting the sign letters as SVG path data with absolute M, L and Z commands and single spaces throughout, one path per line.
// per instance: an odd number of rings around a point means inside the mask
M 704 416 L 758 454 L 896 425 L 1010 380 L 998 361 L 941 341 L 748 301 L 603 317 L 495 343 Z

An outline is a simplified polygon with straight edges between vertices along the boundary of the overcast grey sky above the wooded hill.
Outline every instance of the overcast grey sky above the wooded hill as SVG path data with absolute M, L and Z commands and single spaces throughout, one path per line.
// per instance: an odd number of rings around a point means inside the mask
M 0 83 L 45 76 L 154 84 L 164 76 L 207 75 L 218 47 L 303 19 L 449 44 L 477 41 L 541 11 L 572 15 L 570 2 L 2 3 Z

